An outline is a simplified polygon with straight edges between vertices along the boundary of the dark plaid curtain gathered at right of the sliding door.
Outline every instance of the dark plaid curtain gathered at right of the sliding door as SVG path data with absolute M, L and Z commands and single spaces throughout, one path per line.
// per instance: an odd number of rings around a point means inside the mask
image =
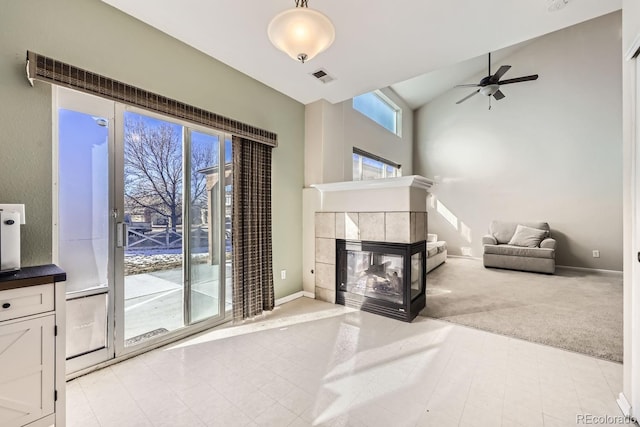
M 233 320 L 274 306 L 271 252 L 272 147 L 233 137 Z

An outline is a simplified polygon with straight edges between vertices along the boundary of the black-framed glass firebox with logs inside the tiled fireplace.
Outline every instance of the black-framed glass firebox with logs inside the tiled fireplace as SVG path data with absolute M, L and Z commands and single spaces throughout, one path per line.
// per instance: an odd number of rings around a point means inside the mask
M 411 322 L 426 306 L 426 243 L 336 240 L 336 303 Z

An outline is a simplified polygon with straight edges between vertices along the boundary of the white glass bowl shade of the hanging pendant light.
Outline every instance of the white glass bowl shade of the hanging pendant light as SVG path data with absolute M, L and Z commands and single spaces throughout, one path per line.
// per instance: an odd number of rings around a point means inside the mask
M 267 28 L 269 40 L 291 58 L 305 62 L 333 43 L 331 20 L 317 10 L 296 7 L 278 14 Z

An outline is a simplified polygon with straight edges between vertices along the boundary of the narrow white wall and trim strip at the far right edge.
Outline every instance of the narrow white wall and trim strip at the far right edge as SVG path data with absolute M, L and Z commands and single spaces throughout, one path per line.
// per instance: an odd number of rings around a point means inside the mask
M 634 41 L 640 37 L 640 2 L 623 0 L 622 4 L 622 52 L 629 52 Z M 640 269 L 636 252 L 640 239 L 637 208 L 640 198 L 636 185 L 638 153 L 638 97 L 637 60 L 623 61 L 623 134 L 624 134 L 624 381 L 623 393 L 635 408 L 633 414 L 640 414 L 640 292 L 638 280 Z M 635 214 L 635 216 L 634 216 Z

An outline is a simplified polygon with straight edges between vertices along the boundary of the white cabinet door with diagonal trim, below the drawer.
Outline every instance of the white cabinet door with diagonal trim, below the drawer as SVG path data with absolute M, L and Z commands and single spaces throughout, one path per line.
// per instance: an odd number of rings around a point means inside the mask
M 0 425 L 22 426 L 54 411 L 53 314 L 0 325 Z

